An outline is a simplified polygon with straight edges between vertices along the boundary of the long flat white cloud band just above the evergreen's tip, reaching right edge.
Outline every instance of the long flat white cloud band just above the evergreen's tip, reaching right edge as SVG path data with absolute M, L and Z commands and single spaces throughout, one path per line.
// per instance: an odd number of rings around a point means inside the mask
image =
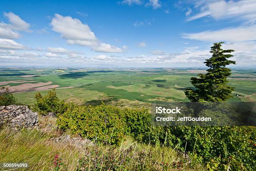
M 237 28 L 225 28 L 216 31 L 204 31 L 200 33 L 182 34 L 182 38 L 202 41 L 230 41 L 241 42 L 256 40 L 256 25 Z

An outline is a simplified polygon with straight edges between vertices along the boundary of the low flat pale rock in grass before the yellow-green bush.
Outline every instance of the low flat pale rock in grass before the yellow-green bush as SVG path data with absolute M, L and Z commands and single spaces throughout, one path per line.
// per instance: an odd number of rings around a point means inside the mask
M 95 146 L 95 144 L 91 140 L 84 139 L 82 137 L 70 138 L 70 135 L 61 136 L 58 138 L 51 138 L 51 140 L 56 143 L 64 143 L 80 149 L 84 149 L 85 146 Z

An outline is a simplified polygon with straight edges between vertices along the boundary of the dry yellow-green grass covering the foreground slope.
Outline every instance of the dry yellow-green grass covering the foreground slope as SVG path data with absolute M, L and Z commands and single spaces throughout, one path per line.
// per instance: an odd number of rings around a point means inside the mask
M 120 146 L 85 146 L 84 150 L 49 141 L 61 136 L 55 127 L 56 118 L 39 118 L 40 130 L 23 129 L 14 133 L 0 129 L 0 163 L 28 163 L 22 171 L 54 169 L 54 156 L 59 155 L 68 171 L 95 170 L 206 170 L 200 163 L 189 163 L 175 149 L 165 146 L 143 145 L 126 137 Z M 82 166 L 79 166 L 82 163 Z M 0 168 L 3 169 L 3 168 Z

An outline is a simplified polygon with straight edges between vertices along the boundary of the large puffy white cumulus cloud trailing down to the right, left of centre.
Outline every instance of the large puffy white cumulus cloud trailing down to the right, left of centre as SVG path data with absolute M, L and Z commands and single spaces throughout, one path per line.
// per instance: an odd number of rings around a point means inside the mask
M 89 46 L 95 52 L 121 53 L 120 48 L 114 45 L 102 43 L 92 32 L 87 24 L 83 24 L 77 18 L 55 14 L 51 20 L 52 30 L 67 39 L 69 45 Z

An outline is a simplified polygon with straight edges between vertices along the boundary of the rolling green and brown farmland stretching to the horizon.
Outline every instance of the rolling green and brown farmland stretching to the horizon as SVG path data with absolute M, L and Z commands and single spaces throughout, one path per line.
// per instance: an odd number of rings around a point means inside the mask
M 186 69 L 0 69 L 0 85 L 9 87 L 19 103 L 33 105 L 36 92 L 56 88 L 57 96 L 77 104 L 101 101 L 120 107 L 149 107 L 154 102 L 188 101 L 189 82 L 204 70 Z M 235 87 L 230 101 L 256 101 L 255 70 L 233 70 L 229 85 Z M 237 96 L 236 96 L 237 95 Z

